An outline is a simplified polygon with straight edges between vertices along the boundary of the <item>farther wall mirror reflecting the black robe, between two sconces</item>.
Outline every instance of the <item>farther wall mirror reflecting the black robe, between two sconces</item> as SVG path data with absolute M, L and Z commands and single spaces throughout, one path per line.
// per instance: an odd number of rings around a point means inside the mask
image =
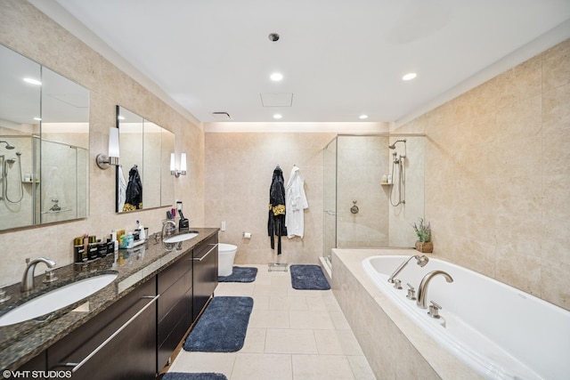
M 175 135 L 134 112 L 117 106 L 120 166 L 117 169 L 117 212 L 174 204 L 170 153 Z

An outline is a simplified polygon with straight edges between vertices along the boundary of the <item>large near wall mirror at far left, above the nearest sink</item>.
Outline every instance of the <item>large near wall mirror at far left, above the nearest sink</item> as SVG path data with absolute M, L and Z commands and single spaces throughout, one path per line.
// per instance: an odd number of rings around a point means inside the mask
M 87 216 L 87 89 L 0 45 L 0 141 L 0 230 Z

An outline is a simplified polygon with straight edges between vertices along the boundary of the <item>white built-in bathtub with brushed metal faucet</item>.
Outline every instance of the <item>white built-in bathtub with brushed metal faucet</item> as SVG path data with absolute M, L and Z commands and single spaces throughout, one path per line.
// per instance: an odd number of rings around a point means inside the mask
M 423 268 L 412 259 L 395 277 L 403 287 L 396 289 L 387 279 L 408 257 L 371 256 L 362 266 L 380 291 L 446 350 L 485 378 L 570 379 L 570 311 L 433 258 Z M 453 279 L 436 276 L 428 286 L 427 303 L 442 306 L 441 319 L 406 297 L 407 284 L 417 291 L 421 279 L 436 270 Z

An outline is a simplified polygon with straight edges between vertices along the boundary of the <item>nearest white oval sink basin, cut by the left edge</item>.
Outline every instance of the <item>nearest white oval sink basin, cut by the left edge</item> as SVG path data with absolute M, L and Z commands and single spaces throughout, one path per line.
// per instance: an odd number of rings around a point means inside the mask
M 76 303 L 89 295 L 108 286 L 117 274 L 102 274 L 73 282 L 65 287 L 58 287 L 45 295 L 39 295 L 17 306 L 14 310 L 0 317 L 0 327 L 10 326 L 29 319 L 34 319 L 53 311 L 60 310 L 72 303 Z

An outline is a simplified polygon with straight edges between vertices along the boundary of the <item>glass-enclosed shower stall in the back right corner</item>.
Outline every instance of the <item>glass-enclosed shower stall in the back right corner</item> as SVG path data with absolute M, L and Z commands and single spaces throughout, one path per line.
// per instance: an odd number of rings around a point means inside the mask
M 323 257 L 331 249 L 413 247 L 424 216 L 425 135 L 338 135 L 323 150 Z

